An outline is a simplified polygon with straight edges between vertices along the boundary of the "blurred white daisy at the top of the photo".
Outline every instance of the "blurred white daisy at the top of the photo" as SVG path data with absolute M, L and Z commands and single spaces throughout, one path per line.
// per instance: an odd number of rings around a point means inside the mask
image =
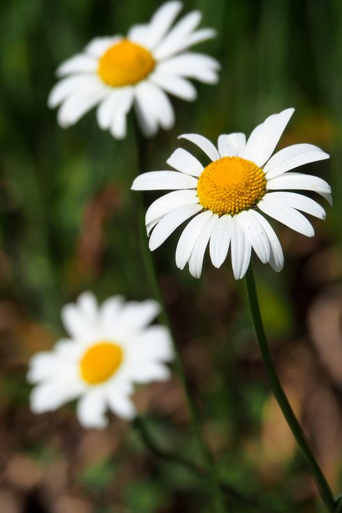
M 62 63 L 57 70 L 61 80 L 48 100 L 51 108 L 60 105 L 60 126 L 74 125 L 98 105 L 99 126 L 117 139 L 126 135 L 132 106 L 145 136 L 154 136 L 159 126 L 170 129 L 174 111 L 166 93 L 191 101 L 197 93 L 188 79 L 218 81 L 218 61 L 186 51 L 215 37 L 215 30 L 197 30 L 202 17 L 197 10 L 172 27 L 181 8 L 179 1 L 164 3 L 149 23 L 133 25 L 126 37 L 95 38 Z

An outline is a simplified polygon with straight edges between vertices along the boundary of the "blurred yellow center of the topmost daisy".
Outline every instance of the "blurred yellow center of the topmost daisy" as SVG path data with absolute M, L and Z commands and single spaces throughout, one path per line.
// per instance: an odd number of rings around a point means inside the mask
M 124 39 L 101 56 L 97 72 L 108 86 L 129 86 L 145 79 L 155 65 L 151 52 Z

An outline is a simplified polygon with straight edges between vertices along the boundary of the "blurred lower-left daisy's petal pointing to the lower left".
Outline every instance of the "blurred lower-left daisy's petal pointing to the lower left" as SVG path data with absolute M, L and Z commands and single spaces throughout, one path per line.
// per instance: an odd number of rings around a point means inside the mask
M 63 381 L 45 382 L 33 388 L 30 395 L 30 407 L 33 413 L 54 411 L 81 393 L 81 384 L 70 387 Z

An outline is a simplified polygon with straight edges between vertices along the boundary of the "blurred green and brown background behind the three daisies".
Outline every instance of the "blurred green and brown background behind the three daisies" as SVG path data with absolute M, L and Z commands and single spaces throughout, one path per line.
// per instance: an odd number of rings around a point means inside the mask
M 95 35 L 126 33 L 159 2 L 13 0 L 1 3 L 0 511 L 183 513 L 211 511 L 201 479 L 153 459 L 131 425 L 81 429 L 72 407 L 33 416 L 26 365 L 63 335 L 60 308 L 83 290 L 102 300 L 152 297 L 138 244 L 140 171 L 131 114 L 115 141 L 92 111 L 63 130 L 47 96 L 58 64 Z M 306 166 L 332 184 L 327 221 L 307 239 L 277 225 L 285 267 L 255 262 L 266 329 L 284 388 L 336 494 L 342 490 L 342 3 L 340 0 L 198 0 L 218 38 L 198 46 L 222 63 L 218 86 L 195 104 L 172 100 L 177 123 L 149 143 L 163 169 L 177 135 L 246 132 L 296 109 L 281 145 L 314 143 L 330 161 Z M 149 198 L 148 203 L 152 200 Z M 206 260 L 200 280 L 174 263 L 176 232 L 154 255 L 193 394 L 222 479 L 245 501 L 234 512 L 321 512 L 307 467 L 270 396 L 229 261 Z M 146 242 L 146 241 L 145 241 Z M 165 450 L 197 460 L 176 378 L 136 392 Z

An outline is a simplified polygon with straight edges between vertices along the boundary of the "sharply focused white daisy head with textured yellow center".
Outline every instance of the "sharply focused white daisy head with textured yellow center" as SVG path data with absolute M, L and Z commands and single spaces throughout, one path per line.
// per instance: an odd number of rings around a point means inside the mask
M 220 267 L 231 247 L 231 265 L 236 279 L 243 278 L 254 249 L 261 262 L 275 271 L 284 265 L 282 246 L 263 214 L 312 237 L 314 228 L 299 211 L 325 219 L 323 208 L 294 191 L 314 191 L 332 203 L 327 182 L 312 175 L 289 173 L 293 168 L 328 159 L 312 144 L 295 144 L 272 155 L 294 109 L 269 116 L 246 142 L 245 134 L 223 134 L 218 148 L 197 134 L 184 134 L 208 155 L 204 167 L 186 150 L 178 148 L 168 159 L 177 171 L 144 173 L 134 180 L 139 191 L 176 189 L 158 198 L 146 213 L 149 248 L 154 251 L 190 217 L 177 245 L 176 263 L 199 278 L 206 246 L 211 262 Z M 195 215 L 197 214 L 197 215 Z

